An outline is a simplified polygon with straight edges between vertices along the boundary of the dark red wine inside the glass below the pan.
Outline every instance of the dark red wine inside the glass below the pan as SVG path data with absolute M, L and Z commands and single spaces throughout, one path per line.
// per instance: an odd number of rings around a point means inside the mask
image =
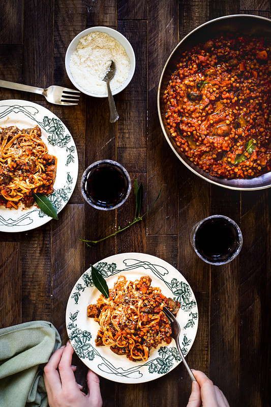
M 212 263 L 228 260 L 238 249 L 238 231 L 224 218 L 212 218 L 203 222 L 195 236 L 199 254 Z

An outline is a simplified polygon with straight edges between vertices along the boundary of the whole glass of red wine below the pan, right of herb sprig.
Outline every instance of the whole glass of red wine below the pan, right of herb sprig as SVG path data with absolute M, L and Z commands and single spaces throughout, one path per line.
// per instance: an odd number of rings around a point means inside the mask
M 232 219 L 224 215 L 213 215 L 193 226 L 190 242 L 203 261 L 223 265 L 239 254 L 243 236 L 239 226 Z

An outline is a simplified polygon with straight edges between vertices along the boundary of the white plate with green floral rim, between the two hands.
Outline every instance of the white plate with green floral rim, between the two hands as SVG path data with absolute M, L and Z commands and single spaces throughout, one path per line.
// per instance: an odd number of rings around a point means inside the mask
M 176 268 L 158 257 L 142 253 L 113 255 L 96 263 L 95 267 L 109 288 L 119 275 L 131 281 L 149 276 L 153 287 L 160 287 L 164 295 L 179 301 L 180 343 L 184 355 L 188 354 L 197 333 L 198 308 L 191 287 Z M 73 287 L 66 310 L 70 341 L 86 366 L 114 382 L 143 383 L 163 376 L 180 363 L 173 339 L 169 345 L 164 342 L 156 349 L 150 349 L 147 362 L 133 362 L 125 355 L 114 354 L 107 346 L 95 346 L 99 324 L 87 317 L 87 306 L 95 304 L 100 294 L 93 285 L 91 268 L 88 268 Z

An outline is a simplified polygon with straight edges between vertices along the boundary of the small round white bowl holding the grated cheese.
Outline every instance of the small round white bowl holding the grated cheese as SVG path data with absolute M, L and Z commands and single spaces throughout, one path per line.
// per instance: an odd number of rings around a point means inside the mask
M 112 91 L 112 94 L 116 95 L 117 93 L 123 91 L 127 87 L 127 85 L 130 83 L 130 81 L 131 81 L 131 79 L 132 79 L 132 77 L 134 75 L 134 72 L 135 72 L 135 53 L 134 53 L 134 50 L 132 48 L 132 45 L 127 40 L 127 38 L 125 38 L 124 35 L 122 35 L 121 33 L 119 33 L 116 30 L 113 30 L 113 29 L 108 28 L 108 27 L 97 26 L 97 27 L 88 28 L 88 29 L 82 31 L 81 33 L 79 33 L 76 37 L 74 37 L 74 39 L 72 40 L 72 42 L 70 43 L 70 45 L 68 46 L 68 49 L 66 51 L 65 67 L 66 67 L 67 74 L 68 74 L 71 82 L 73 83 L 73 85 L 80 92 L 83 92 L 86 95 L 94 96 L 94 97 L 107 97 L 107 93 L 105 93 L 105 94 L 96 94 L 96 93 L 87 92 L 80 85 L 78 85 L 77 82 L 75 82 L 74 77 L 72 76 L 71 71 L 70 71 L 70 59 L 71 59 L 72 54 L 76 50 L 76 47 L 77 47 L 77 45 L 78 45 L 78 43 L 80 41 L 80 38 L 86 36 L 89 33 L 93 33 L 94 31 L 99 31 L 101 33 L 106 33 L 106 34 L 110 35 L 111 37 L 113 37 L 115 40 L 117 40 L 119 43 L 121 43 L 121 45 L 124 47 L 124 49 L 125 49 L 125 51 L 127 53 L 128 58 L 130 59 L 130 71 L 129 71 L 129 75 L 128 75 L 126 81 L 123 83 L 122 86 L 120 86 L 119 88 Z

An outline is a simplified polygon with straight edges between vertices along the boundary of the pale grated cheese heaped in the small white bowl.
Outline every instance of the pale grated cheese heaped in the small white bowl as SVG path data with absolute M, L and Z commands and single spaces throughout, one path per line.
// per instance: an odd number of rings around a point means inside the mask
M 70 59 L 71 74 L 81 88 L 96 95 L 107 95 L 103 78 L 114 61 L 116 71 L 110 80 L 111 91 L 121 87 L 130 71 L 124 47 L 107 33 L 94 31 L 80 38 Z

